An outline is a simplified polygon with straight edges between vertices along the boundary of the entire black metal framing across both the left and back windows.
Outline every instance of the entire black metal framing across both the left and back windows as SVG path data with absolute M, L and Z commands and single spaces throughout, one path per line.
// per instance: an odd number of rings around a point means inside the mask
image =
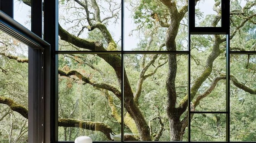
M 29 110 L 29 143 L 74 143 L 74 141 L 58 141 L 58 54 L 121 54 L 122 71 L 124 69 L 125 54 L 186 54 L 188 55 L 188 85 L 190 85 L 190 40 L 194 34 L 225 34 L 226 40 L 226 111 L 190 111 L 190 86 L 188 86 L 188 142 L 190 142 L 190 115 L 200 113 L 226 114 L 226 141 L 230 141 L 230 55 L 232 54 L 256 54 L 256 51 L 230 51 L 230 2 L 222 0 L 222 26 L 221 27 L 195 27 L 195 0 L 188 0 L 188 51 L 125 51 L 124 50 L 124 0 L 122 5 L 122 49 L 121 51 L 58 51 L 58 0 L 44 0 L 44 40 L 42 40 L 42 0 L 31 0 L 31 31 L 14 21 L 13 0 L 0 0 L 0 9 L 10 17 L 0 11 L 0 29 L 12 35 L 18 40 L 28 44 L 35 50 L 29 50 L 29 56 L 34 60 L 29 60 L 29 74 L 33 77 L 29 79 L 29 94 L 36 93 L 36 96 L 29 95 L 29 109 L 36 109 L 36 112 Z M 41 23 L 41 24 L 39 24 Z M 34 32 L 34 33 L 33 33 Z M 50 46 L 51 45 L 51 46 Z M 42 49 L 44 54 L 42 55 Z M 44 67 L 44 68 L 42 68 Z M 35 72 L 36 71 L 36 72 Z M 41 75 L 42 76 L 38 76 Z M 123 74 L 123 72 L 122 72 Z M 123 75 L 122 75 L 123 77 Z M 38 80 L 36 80 L 38 79 Z M 38 81 L 44 80 L 44 83 Z M 32 83 L 32 84 L 31 84 Z M 37 87 L 37 88 L 36 88 Z M 94 141 L 94 143 L 120 143 L 129 142 L 123 140 L 123 81 L 122 81 L 122 141 Z M 41 94 L 40 94 L 41 93 Z M 44 95 L 42 100 L 40 97 Z M 38 103 L 38 105 L 37 105 Z M 45 126 L 41 126 L 41 123 Z M 38 130 L 39 129 L 39 130 Z M 40 138 L 40 140 L 38 140 Z M 42 138 L 42 139 L 41 139 Z M 143 141 L 152 142 L 152 141 Z M 159 141 L 163 143 L 167 141 Z

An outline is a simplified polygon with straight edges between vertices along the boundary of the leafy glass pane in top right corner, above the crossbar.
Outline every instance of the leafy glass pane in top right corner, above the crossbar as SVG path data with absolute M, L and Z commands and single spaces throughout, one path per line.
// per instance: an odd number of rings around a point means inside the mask
M 256 51 L 255 0 L 230 4 L 230 50 Z

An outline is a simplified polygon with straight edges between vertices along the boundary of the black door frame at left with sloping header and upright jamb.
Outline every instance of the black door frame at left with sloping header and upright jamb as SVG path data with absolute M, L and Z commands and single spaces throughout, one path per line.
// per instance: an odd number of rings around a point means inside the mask
M 13 7 L 13 6 L 11 6 Z M 49 50 L 50 45 L 39 36 L 14 21 L 12 17 L 0 11 L 0 29 L 29 46 L 28 62 L 28 119 L 29 143 L 42 143 L 43 107 L 42 96 L 48 94 L 50 60 L 42 58 L 42 51 Z M 47 56 L 46 56 L 47 57 Z

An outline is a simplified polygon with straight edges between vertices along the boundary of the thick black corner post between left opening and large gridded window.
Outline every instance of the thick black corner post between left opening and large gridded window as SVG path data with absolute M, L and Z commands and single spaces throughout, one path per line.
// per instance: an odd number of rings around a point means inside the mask
M 55 143 L 58 140 L 58 84 L 56 68 L 58 57 L 58 0 L 44 0 L 44 40 L 50 47 L 50 94 L 45 95 L 45 142 Z M 45 57 L 46 58 L 46 57 Z

